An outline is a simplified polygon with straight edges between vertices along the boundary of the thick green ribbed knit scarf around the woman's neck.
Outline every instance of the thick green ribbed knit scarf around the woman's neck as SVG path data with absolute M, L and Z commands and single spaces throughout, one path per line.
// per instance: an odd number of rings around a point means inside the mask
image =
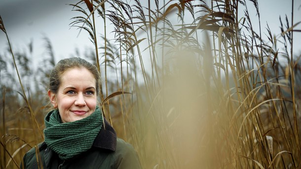
M 52 110 L 45 117 L 45 143 L 62 160 L 68 160 L 92 147 L 103 125 L 99 107 L 90 116 L 69 123 L 61 123 L 59 111 Z

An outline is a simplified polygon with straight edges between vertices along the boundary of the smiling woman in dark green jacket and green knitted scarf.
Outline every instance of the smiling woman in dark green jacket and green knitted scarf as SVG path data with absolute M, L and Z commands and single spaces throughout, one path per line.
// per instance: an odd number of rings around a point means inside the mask
M 64 59 L 55 66 L 48 90 L 54 110 L 45 117 L 45 141 L 25 154 L 21 168 L 141 168 L 134 148 L 103 119 L 99 85 L 97 68 L 83 59 Z

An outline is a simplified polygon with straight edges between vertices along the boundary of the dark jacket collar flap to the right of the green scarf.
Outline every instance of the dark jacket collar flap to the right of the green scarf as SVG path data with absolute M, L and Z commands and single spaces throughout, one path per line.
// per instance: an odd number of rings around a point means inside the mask
M 104 121 L 105 127 L 103 126 L 101 128 L 100 132 L 94 139 L 92 146 L 115 151 L 117 140 L 116 132 L 106 119 L 104 119 Z

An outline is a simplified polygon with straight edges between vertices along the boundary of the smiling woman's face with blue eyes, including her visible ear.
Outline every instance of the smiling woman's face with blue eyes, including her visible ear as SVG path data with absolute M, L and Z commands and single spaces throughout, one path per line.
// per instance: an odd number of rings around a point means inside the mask
M 96 80 L 88 69 L 67 69 L 60 82 L 57 94 L 48 91 L 48 96 L 58 107 L 63 123 L 83 119 L 95 111 Z

